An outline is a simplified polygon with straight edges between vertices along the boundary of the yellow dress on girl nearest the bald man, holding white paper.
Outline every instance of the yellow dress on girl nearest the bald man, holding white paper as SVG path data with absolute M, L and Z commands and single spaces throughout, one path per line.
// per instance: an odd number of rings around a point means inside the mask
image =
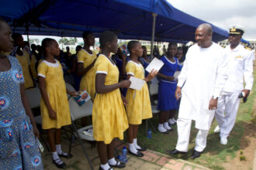
M 132 75 L 138 79 L 144 79 L 144 67 L 130 60 L 126 65 L 127 75 Z M 129 124 L 141 124 L 143 119 L 152 117 L 150 104 L 150 95 L 147 88 L 147 83 L 140 90 L 128 89 L 126 93 L 128 104 L 126 112 Z

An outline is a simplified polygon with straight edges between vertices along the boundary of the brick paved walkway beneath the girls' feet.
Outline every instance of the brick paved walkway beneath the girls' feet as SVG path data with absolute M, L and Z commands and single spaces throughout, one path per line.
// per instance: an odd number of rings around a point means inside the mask
M 74 145 L 78 144 L 78 141 L 75 142 Z M 63 150 L 68 151 L 68 141 L 63 140 L 62 142 Z M 72 155 L 73 158 L 65 159 L 63 161 L 67 164 L 68 170 L 87 170 L 89 169 L 88 161 L 85 158 L 85 154 L 81 149 L 81 145 L 76 145 L 72 148 Z M 91 148 L 91 145 L 87 142 L 84 142 L 85 148 L 88 151 L 89 157 L 95 158 L 97 156 L 96 148 Z M 116 145 L 119 145 L 119 141 L 116 141 Z M 119 145 L 119 148 L 123 148 L 123 145 Z M 118 149 L 119 149 L 118 148 Z M 45 148 L 43 151 L 43 165 L 46 170 L 57 170 L 55 165 L 52 162 L 52 156 L 49 151 Z M 92 162 L 95 170 L 99 169 L 99 158 L 95 158 Z M 116 168 L 118 169 L 118 168 Z M 171 158 L 168 155 L 163 155 L 161 153 L 155 151 L 144 151 L 144 157 L 137 158 L 133 155 L 128 155 L 128 162 L 126 163 L 126 168 L 123 170 L 202 170 L 202 169 L 209 169 L 203 167 L 201 165 L 196 165 L 192 162 L 187 162 L 182 159 Z

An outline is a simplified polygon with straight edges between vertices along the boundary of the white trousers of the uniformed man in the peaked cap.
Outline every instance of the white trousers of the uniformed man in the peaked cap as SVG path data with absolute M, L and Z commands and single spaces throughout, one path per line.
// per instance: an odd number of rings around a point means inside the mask
M 226 92 L 218 99 L 215 117 L 220 126 L 220 138 L 227 138 L 230 131 L 234 128 L 237 110 L 240 104 L 240 99 L 238 98 L 239 94 L 240 92 Z

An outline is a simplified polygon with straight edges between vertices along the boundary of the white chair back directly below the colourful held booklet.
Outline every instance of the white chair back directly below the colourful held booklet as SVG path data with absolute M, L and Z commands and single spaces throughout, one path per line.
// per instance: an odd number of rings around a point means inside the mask
M 74 100 L 74 98 L 71 97 L 68 100 L 68 104 L 69 109 L 71 111 L 71 118 L 73 121 L 81 117 L 87 117 L 92 115 L 92 100 L 88 100 L 85 104 L 79 106 L 78 103 Z

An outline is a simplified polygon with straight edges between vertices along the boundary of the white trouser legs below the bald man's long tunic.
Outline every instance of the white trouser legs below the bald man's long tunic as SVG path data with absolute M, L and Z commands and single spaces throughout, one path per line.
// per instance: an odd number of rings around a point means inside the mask
M 178 128 L 178 141 L 176 149 L 178 151 L 188 151 L 189 148 L 189 136 L 191 130 L 192 120 L 178 118 L 177 128 Z M 196 135 L 195 138 L 195 151 L 203 151 L 206 148 L 206 140 L 209 130 L 201 130 Z

